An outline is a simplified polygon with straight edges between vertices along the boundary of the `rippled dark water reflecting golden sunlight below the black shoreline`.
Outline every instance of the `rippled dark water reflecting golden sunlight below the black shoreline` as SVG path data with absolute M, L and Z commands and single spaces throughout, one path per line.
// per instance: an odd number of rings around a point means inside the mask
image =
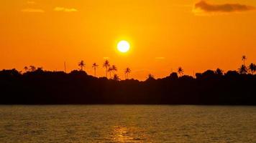
M 0 142 L 256 142 L 256 107 L 0 106 Z

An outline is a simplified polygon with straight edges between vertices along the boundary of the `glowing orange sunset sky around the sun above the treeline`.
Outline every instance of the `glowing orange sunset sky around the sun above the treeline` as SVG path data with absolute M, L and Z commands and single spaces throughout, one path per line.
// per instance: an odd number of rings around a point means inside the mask
M 78 69 L 104 77 L 105 59 L 121 79 L 237 70 L 256 61 L 255 0 L 1 0 L 0 69 Z M 127 40 L 129 52 L 116 50 Z

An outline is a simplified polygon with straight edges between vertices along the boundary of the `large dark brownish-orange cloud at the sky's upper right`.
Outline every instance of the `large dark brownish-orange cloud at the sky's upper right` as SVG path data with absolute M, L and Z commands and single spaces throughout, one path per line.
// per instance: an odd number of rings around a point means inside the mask
M 195 13 L 229 13 L 237 11 L 250 11 L 253 9 L 255 9 L 254 6 L 247 6 L 244 4 L 209 4 L 203 0 L 195 4 L 193 11 Z

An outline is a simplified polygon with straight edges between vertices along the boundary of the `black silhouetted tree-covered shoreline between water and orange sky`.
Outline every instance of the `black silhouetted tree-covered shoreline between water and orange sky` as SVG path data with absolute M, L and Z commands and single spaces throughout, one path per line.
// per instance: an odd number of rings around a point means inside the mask
M 82 68 L 83 66 L 81 66 Z M 256 76 L 221 69 L 196 78 L 173 72 L 163 79 L 96 78 L 85 71 L 21 74 L 0 71 L 0 104 L 250 104 L 256 105 Z

